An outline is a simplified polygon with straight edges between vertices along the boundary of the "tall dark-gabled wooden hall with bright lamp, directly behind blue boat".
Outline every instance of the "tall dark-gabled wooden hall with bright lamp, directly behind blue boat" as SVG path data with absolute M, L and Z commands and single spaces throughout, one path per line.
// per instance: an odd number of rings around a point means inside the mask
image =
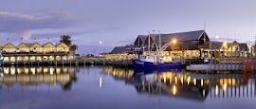
M 137 45 L 137 41 L 134 43 L 137 47 L 144 47 L 144 54 L 149 54 L 148 51 L 155 53 L 156 49 L 161 48 L 164 60 L 198 59 L 208 56 L 206 49 L 209 47 L 210 38 L 205 30 L 150 34 L 146 37 L 144 46 Z

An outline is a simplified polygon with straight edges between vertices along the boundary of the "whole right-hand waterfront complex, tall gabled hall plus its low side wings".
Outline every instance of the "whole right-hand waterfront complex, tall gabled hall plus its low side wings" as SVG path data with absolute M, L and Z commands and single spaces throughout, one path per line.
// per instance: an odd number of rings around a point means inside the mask
M 210 41 L 205 30 L 196 30 L 138 35 L 134 45 L 117 46 L 107 57 L 119 59 L 118 56 L 124 57 L 125 54 L 155 54 L 157 49 L 161 49 L 160 54 L 164 56 L 164 60 L 219 59 L 221 57 L 247 57 L 253 54 L 246 43 L 213 42 Z

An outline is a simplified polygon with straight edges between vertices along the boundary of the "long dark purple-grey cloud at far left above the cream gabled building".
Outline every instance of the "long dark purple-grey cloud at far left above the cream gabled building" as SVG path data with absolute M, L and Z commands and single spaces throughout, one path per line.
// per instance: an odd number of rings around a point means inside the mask
M 79 24 L 79 21 L 65 12 L 32 15 L 0 11 L 0 32 L 24 33 L 34 29 L 72 27 Z

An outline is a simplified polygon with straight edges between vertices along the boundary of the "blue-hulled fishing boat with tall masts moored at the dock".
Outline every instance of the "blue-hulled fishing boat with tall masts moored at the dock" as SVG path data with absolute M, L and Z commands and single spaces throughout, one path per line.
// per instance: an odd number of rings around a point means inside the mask
M 148 35 L 150 39 L 150 34 Z M 152 55 L 148 54 L 146 56 L 138 56 L 138 59 L 134 59 L 133 61 L 133 66 L 137 69 L 175 69 L 175 68 L 181 68 L 182 63 L 180 61 L 164 61 L 160 51 L 163 51 L 167 46 L 171 45 L 167 44 L 161 47 L 161 39 L 160 39 L 160 34 L 159 34 L 159 47 L 157 46 L 158 49 L 157 53 Z M 148 51 L 149 53 L 151 52 L 151 46 L 150 46 L 150 40 L 148 40 Z

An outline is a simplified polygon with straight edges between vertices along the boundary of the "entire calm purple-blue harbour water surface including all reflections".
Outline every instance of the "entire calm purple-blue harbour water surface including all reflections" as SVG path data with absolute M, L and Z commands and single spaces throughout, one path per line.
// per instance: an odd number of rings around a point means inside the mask
M 253 74 L 4 67 L 1 109 L 256 108 Z

